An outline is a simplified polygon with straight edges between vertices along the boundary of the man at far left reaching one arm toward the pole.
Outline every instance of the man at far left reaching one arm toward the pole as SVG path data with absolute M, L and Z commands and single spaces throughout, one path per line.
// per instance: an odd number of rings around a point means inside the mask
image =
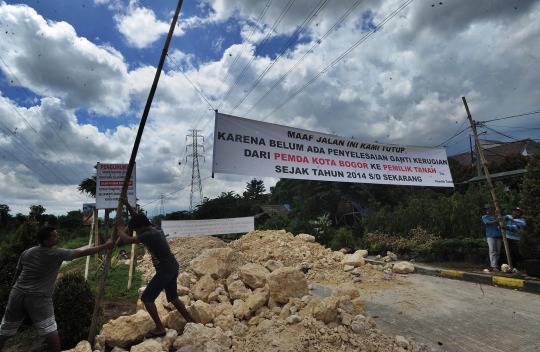
M 38 231 L 40 245 L 25 250 L 17 264 L 13 289 L 0 325 L 0 351 L 7 339 L 15 336 L 26 315 L 30 315 L 40 337 L 49 350 L 60 352 L 60 336 L 56 330 L 52 295 L 58 271 L 63 261 L 85 257 L 112 249 L 112 240 L 86 249 L 53 248 L 59 242 L 58 233 L 47 226 Z

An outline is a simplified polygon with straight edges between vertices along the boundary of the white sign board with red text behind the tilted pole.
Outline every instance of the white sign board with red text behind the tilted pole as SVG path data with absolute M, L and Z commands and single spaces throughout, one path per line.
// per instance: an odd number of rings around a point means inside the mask
M 118 199 L 126 177 L 128 164 L 100 164 L 97 165 L 96 178 L 96 208 L 97 209 L 116 209 Z M 129 204 L 135 208 L 137 198 L 135 192 L 135 165 L 129 179 L 127 190 Z

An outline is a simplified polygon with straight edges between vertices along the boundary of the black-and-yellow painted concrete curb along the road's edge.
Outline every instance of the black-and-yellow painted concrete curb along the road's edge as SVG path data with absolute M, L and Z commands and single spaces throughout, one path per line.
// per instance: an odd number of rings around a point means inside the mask
M 373 265 L 380 264 L 384 266 L 387 264 L 384 261 L 370 258 L 365 258 L 364 261 Z M 390 264 L 396 263 L 399 263 L 399 261 L 390 262 Z M 474 282 L 477 284 L 507 287 L 520 291 L 540 294 L 540 281 L 514 279 L 504 276 L 491 276 L 480 273 L 468 273 L 458 270 L 437 269 L 428 266 L 418 265 L 416 263 L 413 263 L 413 265 L 415 269 L 414 272 L 420 275 L 445 277 L 447 279 L 463 280 L 468 282 Z

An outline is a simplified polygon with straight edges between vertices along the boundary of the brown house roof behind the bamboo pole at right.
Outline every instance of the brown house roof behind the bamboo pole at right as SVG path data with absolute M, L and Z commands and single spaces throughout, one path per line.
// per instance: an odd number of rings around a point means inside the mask
M 517 142 L 500 142 L 481 140 L 480 145 L 486 158 L 486 162 L 500 161 L 504 156 L 510 154 L 521 154 L 524 156 L 536 154 L 540 151 L 538 145 L 531 139 L 524 139 Z M 476 151 L 471 153 L 461 153 L 451 155 L 448 158 L 454 159 L 461 165 L 476 165 Z

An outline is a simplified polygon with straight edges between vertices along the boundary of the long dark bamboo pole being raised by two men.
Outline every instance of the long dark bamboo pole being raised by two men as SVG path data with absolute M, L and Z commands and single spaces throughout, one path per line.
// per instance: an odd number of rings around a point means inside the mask
M 139 150 L 139 144 L 141 143 L 144 126 L 146 125 L 146 120 L 148 118 L 148 113 L 150 112 L 150 106 L 152 105 L 154 94 L 156 93 L 159 77 L 161 75 L 161 70 L 163 69 L 165 58 L 167 57 L 169 44 L 171 43 L 172 35 L 174 33 L 174 27 L 176 27 L 176 22 L 178 21 L 178 16 L 180 15 L 180 9 L 182 8 L 182 3 L 183 3 L 183 0 L 178 0 L 178 4 L 176 5 L 176 11 L 174 12 L 174 17 L 171 22 L 171 27 L 169 28 L 169 33 L 167 34 L 167 39 L 165 40 L 165 45 L 163 47 L 163 51 L 161 52 L 161 58 L 159 59 L 159 64 L 156 69 L 154 83 L 152 84 L 152 88 L 150 88 L 150 94 L 148 94 L 148 99 L 146 100 L 146 106 L 144 107 L 143 115 L 141 117 L 141 122 L 139 123 L 139 130 L 137 131 L 137 136 L 135 137 L 135 143 L 131 151 L 131 158 L 129 159 L 128 168 L 126 170 L 126 177 L 124 178 L 124 184 L 122 186 L 122 191 L 120 192 L 120 198 L 124 198 L 127 195 L 129 180 L 133 172 L 135 159 L 137 158 L 137 152 Z M 116 219 L 121 219 L 122 209 L 123 209 L 122 202 L 118 200 L 118 207 L 116 209 Z M 118 234 L 116 231 L 116 227 L 113 227 L 111 239 L 117 240 L 117 237 L 118 237 Z M 103 275 L 101 276 L 101 282 L 99 284 L 99 290 L 96 296 L 96 304 L 94 306 L 94 315 L 92 316 L 92 324 L 90 325 L 90 332 L 88 334 L 88 341 L 90 342 L 91 345 L 94 343 L 94 337 L 96 336 L 98 313 L 99 313 L 99 308 L 101 307 L 101 300 L 103 299 L 103 294 L 105 292 L 105 284 L 107 282 L 107 275 L 109 273 L 109 266 L 111 264 L 112 253 L 113 253 L 113 249 L 107 250 L 107 257 L 105 258 L 105 265 L 103 267 Z

